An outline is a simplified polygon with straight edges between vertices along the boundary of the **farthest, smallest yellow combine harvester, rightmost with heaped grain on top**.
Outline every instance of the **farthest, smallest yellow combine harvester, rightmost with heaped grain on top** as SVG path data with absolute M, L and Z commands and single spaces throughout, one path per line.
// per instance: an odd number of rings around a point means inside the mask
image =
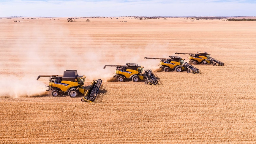
M 175 54 L 184 54 L 189 55 L 189 62 L 192 64 L 213 64 L 214 66 L 224 66 L 224 63 L 212 58 L 210 54 L 206 52 L 197 52 L 197 53 L 175 53 Z

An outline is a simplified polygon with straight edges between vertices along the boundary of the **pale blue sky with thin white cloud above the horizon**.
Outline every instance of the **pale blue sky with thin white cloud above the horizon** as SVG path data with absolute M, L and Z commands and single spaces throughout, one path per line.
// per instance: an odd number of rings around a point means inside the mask
M 0 17 L 256 16 L 255 0 L 0 0 Z

